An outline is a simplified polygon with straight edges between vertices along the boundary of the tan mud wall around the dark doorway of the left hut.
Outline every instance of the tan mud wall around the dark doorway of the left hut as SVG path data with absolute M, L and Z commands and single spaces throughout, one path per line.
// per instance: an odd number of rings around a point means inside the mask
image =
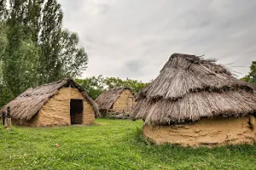
M 37 115 L 32 117 L 30 122 L 15 121 L 16 124 L 29 125 L 32 127 L 63 126 L 70 125 L 70 99 L 83 99 L 83 124 L 95 122 L 95 112 L 77 88 L 61 88 L 42 107 Z

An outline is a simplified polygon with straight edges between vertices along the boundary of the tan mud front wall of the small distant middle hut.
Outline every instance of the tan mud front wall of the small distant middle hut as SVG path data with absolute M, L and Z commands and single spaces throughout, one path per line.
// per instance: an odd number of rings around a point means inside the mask
M 128 108 L 128 97 L 133 98 L 133 107 L 136 105 L 134 95 L 131 93 L 131 90 L 125 89 L 120 95 L 119 98 L 113 103 L 113 110 L 117 111 L 127 111 Z

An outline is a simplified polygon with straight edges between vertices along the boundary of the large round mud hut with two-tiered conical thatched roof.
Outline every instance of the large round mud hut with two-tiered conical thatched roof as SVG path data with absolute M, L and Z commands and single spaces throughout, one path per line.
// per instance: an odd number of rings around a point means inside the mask
M 253 143 L 256 94 L 215 61 L 172 54 L 131 111 L 145 137 L 183 146 Z

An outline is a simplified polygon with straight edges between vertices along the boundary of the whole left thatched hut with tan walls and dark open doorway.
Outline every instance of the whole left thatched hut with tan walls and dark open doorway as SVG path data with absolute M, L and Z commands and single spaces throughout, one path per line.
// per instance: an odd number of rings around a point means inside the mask
M 99 116 L 96 103 L 72 79 L 29 88 L 2 111 L 7 107 L 13 123 L 31 127 L 91 124 Z

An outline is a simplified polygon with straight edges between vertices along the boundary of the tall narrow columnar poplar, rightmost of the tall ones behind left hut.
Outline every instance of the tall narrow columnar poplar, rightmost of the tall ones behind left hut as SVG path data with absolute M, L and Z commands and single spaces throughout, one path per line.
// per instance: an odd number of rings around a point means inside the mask
M 43 20 L 40 22 L 40 31 L 42 33 L 37 33 L 40 37 L 38 45 L 42 49 L 40 57 L 42 67 L 39 74 L 43 83 L 52 82 L 62 76 L 62 63 L 59 54 L 61 52 L 61 21 L 63 14 L 61 5 L 55 0 L 48 0 L 42 8 L 41 14 Z

